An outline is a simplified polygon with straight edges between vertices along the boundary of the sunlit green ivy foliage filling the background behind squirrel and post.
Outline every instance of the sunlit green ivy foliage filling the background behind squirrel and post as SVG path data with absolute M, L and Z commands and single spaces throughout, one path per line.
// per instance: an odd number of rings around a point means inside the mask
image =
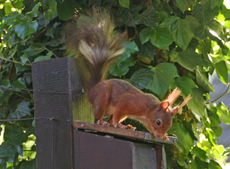
M 217 140 L 220 120 L 230 124 L 230 115 L 222 103 L 209 104 L 208 81 L 216 71 L 228 84 L 230 10 L 223 0 L 0 0 L 0 168 L 36 168 L 31 63 L 65 57 L 65 23 L 75 8 L 92 6 L 110 9 L 129 34 L 109 78 L 160 99 L 175 87 L 180 100 L 193 97 L 169 131 L 178 143 L 166 147 L 168 168 L 224 167 L 230 149 Z

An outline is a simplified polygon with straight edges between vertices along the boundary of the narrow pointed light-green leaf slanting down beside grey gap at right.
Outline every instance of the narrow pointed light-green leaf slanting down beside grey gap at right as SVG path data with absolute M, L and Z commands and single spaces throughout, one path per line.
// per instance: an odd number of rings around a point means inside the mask
M 209 80 L 204 74 L 203 70 L 198 67 L 196 69 L 196 81 L 198 85 L 202 86 L 206 91 L 208 92 L 215 91 L 214 87 L 211 85 L 211 83 L 209 83 Z

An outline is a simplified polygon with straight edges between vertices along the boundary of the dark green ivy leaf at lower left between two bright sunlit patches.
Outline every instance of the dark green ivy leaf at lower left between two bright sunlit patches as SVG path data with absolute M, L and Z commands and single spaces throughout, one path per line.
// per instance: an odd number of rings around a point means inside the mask
M 26 142 L 28 137 L 20 127 L 13 124 L 5 124 L 4 138 L 8 143 L 17 146 Z

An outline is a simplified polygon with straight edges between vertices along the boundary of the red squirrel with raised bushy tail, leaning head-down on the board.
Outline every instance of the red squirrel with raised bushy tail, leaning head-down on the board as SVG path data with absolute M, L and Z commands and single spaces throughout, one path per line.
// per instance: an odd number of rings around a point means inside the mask
M 163 102 L 152 94 L 137 89 L 130 83 L 119 80 L 105 80 L 111 66 L 125 51 L 124 34 L 114 30 L 114 22 L 106 10 L 93 9 L 88 16 L 79 18 L 77 24 L 67 26 L 67 49 L 75 51 L 83 62 L 88 101 L 93 105 L 95 123 L 105 125 L 104 116 L 114 127 L 130 117 L 141 121 L 156 137 L 167 140 L 165 135 L 172 126 L 172 118 L 191 97 L 180 106 L 171 105 L 181 91 L 173 90 Z

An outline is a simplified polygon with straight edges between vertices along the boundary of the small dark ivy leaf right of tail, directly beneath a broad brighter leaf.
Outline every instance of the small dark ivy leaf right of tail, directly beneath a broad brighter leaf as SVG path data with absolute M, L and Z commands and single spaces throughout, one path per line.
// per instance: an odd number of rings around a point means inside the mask
M 147 57 L 150 59 L 154 59 L 153 56 L 156 51 L 156 47 L 152 45 L 151 42 L 146 42 L 145 44 L 141 44 L 140 40 L 135 40 L 136 44 L 138 45 L 139 51 L 136 52 L 137 55 Z

